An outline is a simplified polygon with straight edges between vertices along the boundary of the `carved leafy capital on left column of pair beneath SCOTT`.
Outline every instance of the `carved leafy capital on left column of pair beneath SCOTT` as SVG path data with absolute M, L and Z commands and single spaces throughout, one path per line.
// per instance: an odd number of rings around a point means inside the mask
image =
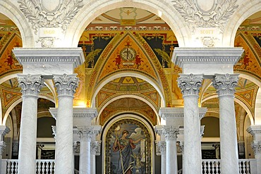
M 178 77 L 178 87 L 181 88 L 181 93 L 184 96 L 198 95 L 202 86 L 203 75 L 186 75 L 180 74 Z

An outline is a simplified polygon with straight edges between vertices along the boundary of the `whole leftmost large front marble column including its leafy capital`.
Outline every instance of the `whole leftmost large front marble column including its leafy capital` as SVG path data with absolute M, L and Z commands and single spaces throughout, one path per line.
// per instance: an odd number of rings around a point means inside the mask
M 22 114 L 18 153 L 18 173 L 35 174 L 37 138 L 37 99 L 44 85 L 40 75 L 18 75 L 22 92 Z

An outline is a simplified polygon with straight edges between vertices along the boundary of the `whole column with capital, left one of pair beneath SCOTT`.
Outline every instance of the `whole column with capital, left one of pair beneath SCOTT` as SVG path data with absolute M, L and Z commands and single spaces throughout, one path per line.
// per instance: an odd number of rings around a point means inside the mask
M 184 99 L 184 158 L 183 174 L 201 174 L 201 137 L 198 94 L 202 75 L 180 74 L 178 87 Z

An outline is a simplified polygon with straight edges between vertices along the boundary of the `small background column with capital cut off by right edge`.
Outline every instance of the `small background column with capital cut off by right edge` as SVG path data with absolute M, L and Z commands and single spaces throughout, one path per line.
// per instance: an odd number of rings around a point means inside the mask
M 251 144 L 251 147 L 257 161 L 257 174 L 261 174 L 261 125 L 250 125 L 247 131 L 253 135 L 253 143 Z

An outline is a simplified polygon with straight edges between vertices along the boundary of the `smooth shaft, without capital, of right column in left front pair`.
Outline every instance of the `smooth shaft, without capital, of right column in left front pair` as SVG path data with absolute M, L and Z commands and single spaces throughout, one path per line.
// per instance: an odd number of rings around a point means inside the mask
M 73 97 L 58 97 L 56 118 L 55 173 L 71 174 L 74 171 L 73 158 Z

